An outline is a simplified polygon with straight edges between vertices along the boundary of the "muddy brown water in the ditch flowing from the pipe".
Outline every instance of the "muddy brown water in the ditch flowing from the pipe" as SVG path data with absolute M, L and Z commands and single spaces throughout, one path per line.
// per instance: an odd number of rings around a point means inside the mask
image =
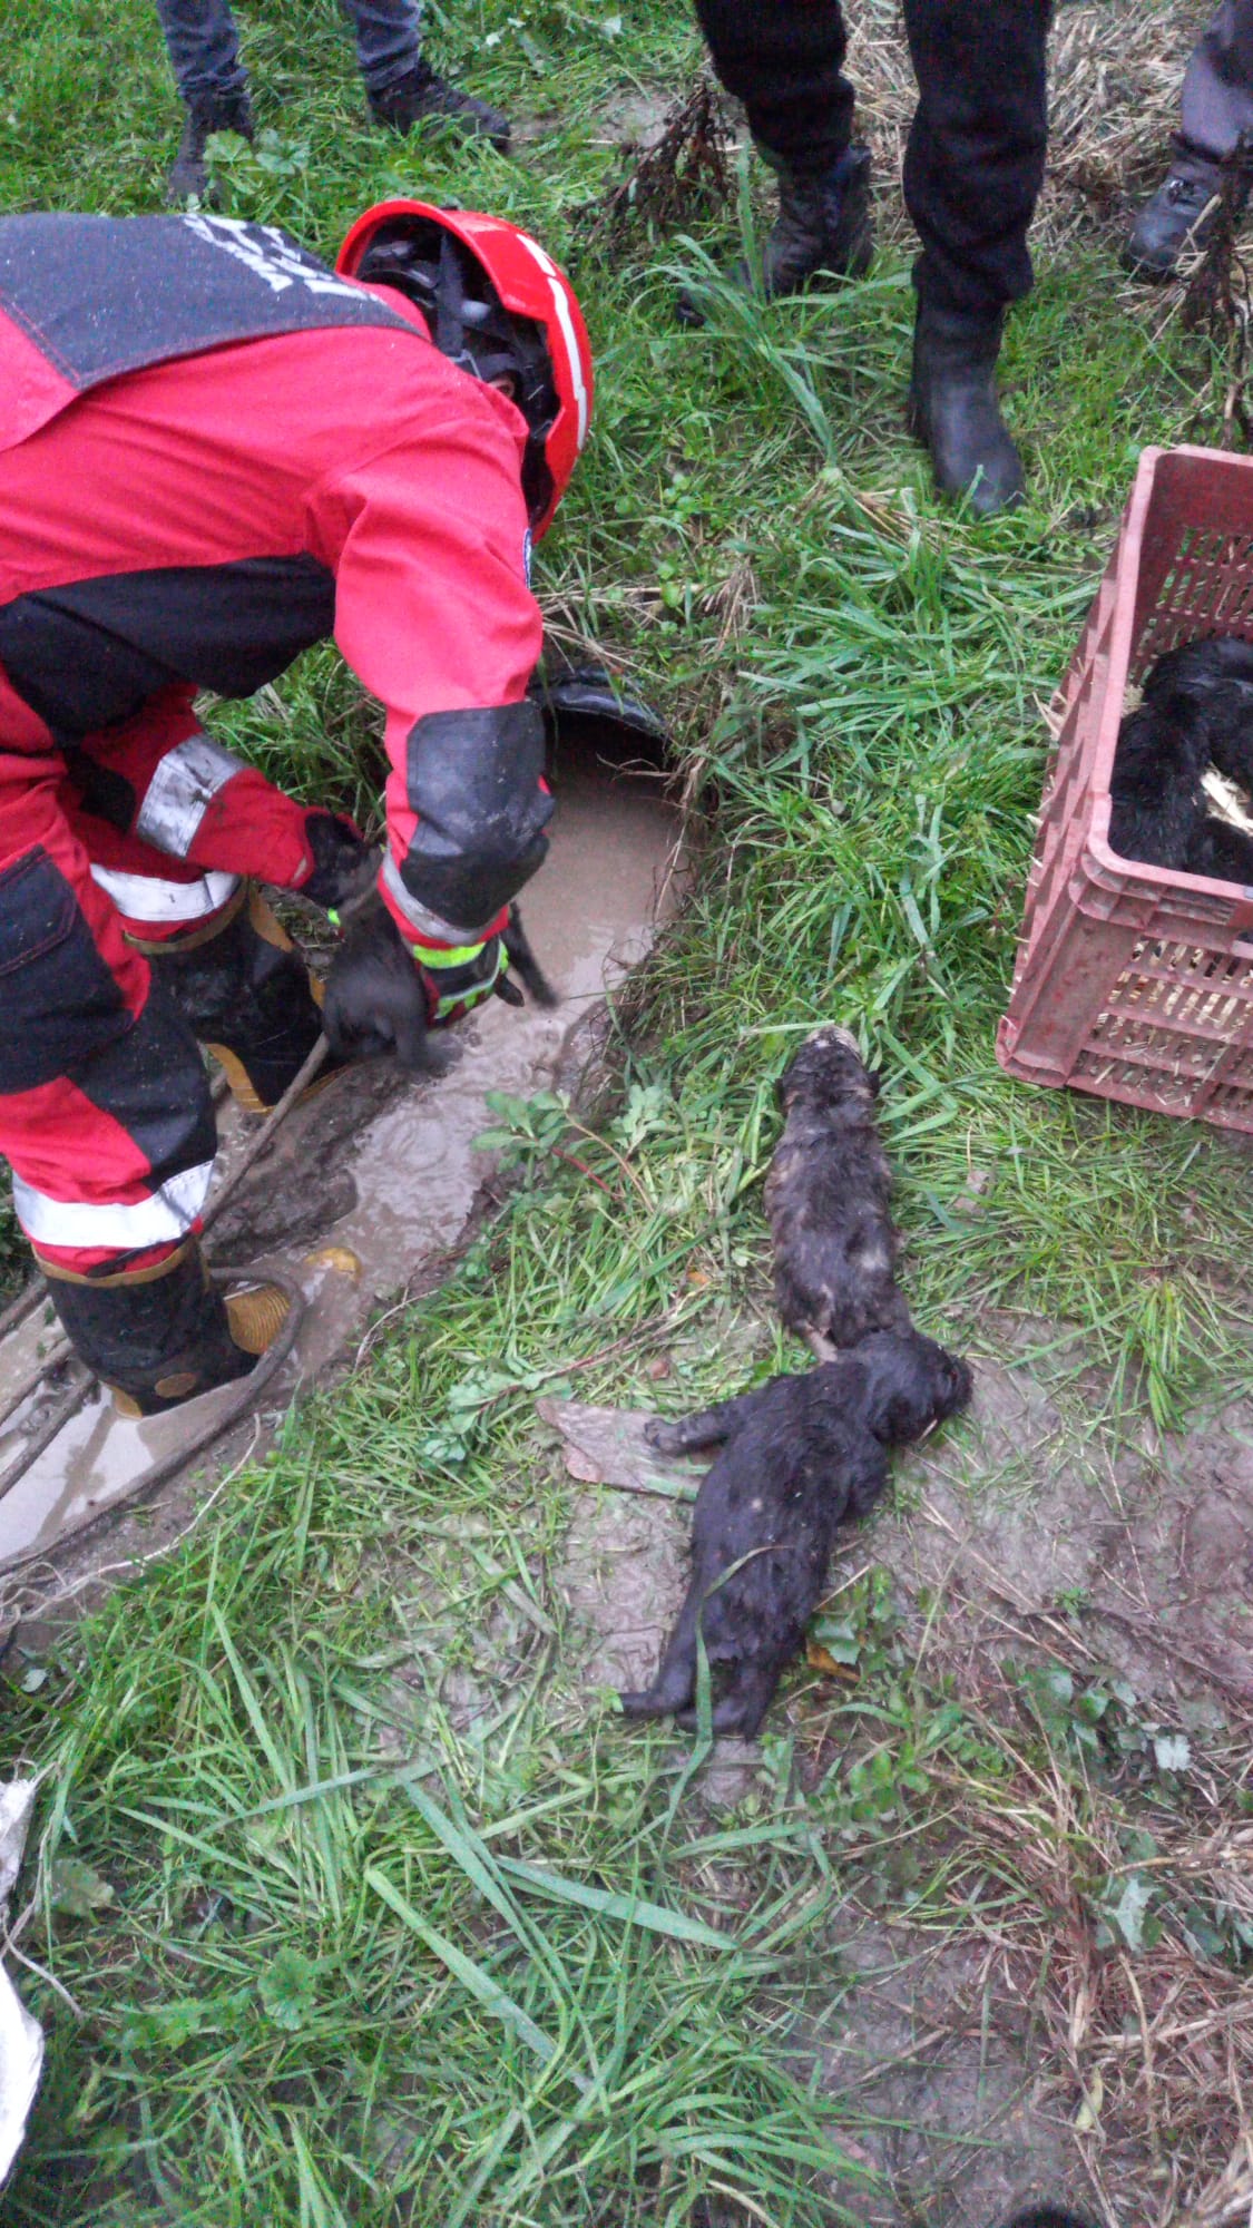
M 446 1076 L 395 1087 L 379 1065 L 330 1083 L 290 1118 L 227 1210 L 221 1243 L 216 1234 L 210 1241 L 216 1259 L 274 1263 L 305 1299 L 294 1355 L 261 1399 L 263 1419 L 276 1419 L 301 1381 L 352 1352 L 379 1301 L 439 1272 L 490 1172 L 490 1156 L 473 1150 L 490 1123 L 486 1094 L 524 1098 L 553 1085 L 571 1032 L 644 956 L 673 905 L 678 818 L 662 784 L 569 762 L 555 786 L 553 847 L 526 889 L 524 913 L 562 1003 L 544 1012 L 493 998 L 457 1032 L 459 1058 Z M 230 1172 L 250 1125 L 225 1110 L 218 1130 L 221 1170 Z M 4 1341 L 0 1408 L 4 1386 L 13 1388 L 54 1337 L 40 1308 Z M 145 1424 L 116 1417 L 96 1395 L 0 1499 L 0 1569 L 47 1553 L 125 1502 L 232 1390 Z M 0 1470 L 31 1419 L 27 1404 L 0 1426 Z

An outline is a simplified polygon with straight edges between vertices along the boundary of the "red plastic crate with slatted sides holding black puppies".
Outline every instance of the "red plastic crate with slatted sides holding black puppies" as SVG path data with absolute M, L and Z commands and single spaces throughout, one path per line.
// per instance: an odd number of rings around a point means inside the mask
M 1253 642 L 1253 457 L 1146 448 L 1055 702 L 997 1058 L 1026 1083 L 1253 1132 L 1253 887 L 1110 851 L 1124 695 L 1193 635 Z

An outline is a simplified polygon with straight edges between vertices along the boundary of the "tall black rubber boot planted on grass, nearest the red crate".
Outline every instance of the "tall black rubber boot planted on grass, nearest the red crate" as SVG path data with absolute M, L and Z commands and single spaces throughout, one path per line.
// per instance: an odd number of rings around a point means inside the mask
M 939 492 L 965 497 L 977 519 L 1023 497 L 1023 463 L 997 401 L 1003 323 L 923 301 L 914 321 L 910 432 L 932 452 Z

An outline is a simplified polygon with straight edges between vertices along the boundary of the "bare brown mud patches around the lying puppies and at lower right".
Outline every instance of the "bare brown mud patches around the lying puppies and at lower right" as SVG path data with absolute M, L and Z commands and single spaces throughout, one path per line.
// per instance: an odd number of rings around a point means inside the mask
M 765 1355 L 763 1323 L 736 1330 L 747 1355 Z M 1126 1444 L 1110 1386 L 1068 1326 L 997 1317 L 981 1343 L 970 1415 L 896 1466 L 890 1497 L 836 1553 L 832 1593 L 867 1566 L 887 1571 L 905 1644 L 959 1691 L 983 1655 L 1030 1662 L 1066 1635 L 1070 1655 L 1128 1678 L 1164 1722 L 1222 1724 L 1253 1700 L 1253 1408 Z M 667 1473 L 640 1439 L 642 1415 L 555 1401 L 542 1415 L 551 1459 L 582 1479 L 555 1575 L 580 1635 L 573 1680 L 638 1687 L 687 1575 L 689 1511 L 660 1495 L 700 1470 Z M 774 1731 L 800 1724 L 816 1684 L 791 1675 Z M 702 1800 L 738 1802 L 756 1769 L 751 1747 L 716 1745 Z M 803 2010 L 794 2041 L 841 2094 L 838 2139 L 878 2168 L 887 2197 L 852 2183 L 832 2197 L 865 2228 L 990 2228 L 1046 2197 L 1090 2212 L 1081 2094 L 1046 2050 L 1012 1958 L 974 1929 L 883 1923 L 858 1885 L 849 1867 L 849 1896 L 823 1921 L 829 2001 Z M 849 2103 L 865 2114 L 852 2134 Z

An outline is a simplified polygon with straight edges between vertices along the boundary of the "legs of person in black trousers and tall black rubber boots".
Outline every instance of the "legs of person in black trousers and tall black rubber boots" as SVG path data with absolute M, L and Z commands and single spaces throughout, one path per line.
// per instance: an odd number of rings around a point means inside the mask
M 767 299 L 818 272 L 861 276 L 872 254 L 870 149 L 852 138 L 838 0 L 698 0 L 698 13 L 713 67 L 778 176 Z M 1048 140 L 1050 13 L 1050 0 L 905 0 L 919 80 L 905 205 L 923 243 L 910 428 L 941 495 L 965 497 L 979 517 L 1023 492 L 994 374 L 1006 307 L 1032 283 L 1026 236 Z

